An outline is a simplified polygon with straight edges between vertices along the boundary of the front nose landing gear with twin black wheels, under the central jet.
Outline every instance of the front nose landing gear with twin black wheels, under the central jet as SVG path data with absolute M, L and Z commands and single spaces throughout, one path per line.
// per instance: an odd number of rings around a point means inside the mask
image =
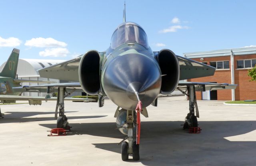
M 127 134 L 127 137 L 125 137 L 120 143 L 121 143 L 121 154 L 122 154 L 122 160 L 126 161 L 128 160 L 129 154 L 132 154 L 133 160 L 140 160 L 140 144 L 137 144 L 139 142 L 136 141 L 136 130 L 137 128 L 137 116 L 136 111 L 131 110 L 125 110 L 121 109 L 119 111 L 119 108 L 117 109 L 117 113 L 115 117 L 117 117 L 117 128 L 123 133 Z M 125 116 L 126 113 L 126 116 Z M 126 118 L 126 119 L 125 119 Z M 138 128 L 137 128 L 138 133 Z M 125 140 L 128 140 L 126 142 Z M 119 144 L 120 144 L 119 143 Z

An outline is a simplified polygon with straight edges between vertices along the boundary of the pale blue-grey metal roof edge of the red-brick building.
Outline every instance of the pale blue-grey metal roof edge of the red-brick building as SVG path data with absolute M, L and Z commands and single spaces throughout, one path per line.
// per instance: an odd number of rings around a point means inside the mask
M 242 47 L 242 48 L 230 48 L 230 49 L 219 49 L 213 51 L 200 51 L 200 52 L 189 52 L 183 53 L 184 57 L 187 58 L 198 58 L 198 57 L 218 57 L 218 56 L 230 56 L 230 52 L 233 55 L 247 55 L 256 53 L 256 47 Z

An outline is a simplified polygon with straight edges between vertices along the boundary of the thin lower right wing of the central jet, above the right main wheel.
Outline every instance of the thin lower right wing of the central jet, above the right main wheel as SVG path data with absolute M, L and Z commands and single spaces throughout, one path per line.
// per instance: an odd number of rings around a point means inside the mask
M 236 86 L 237 86 L 236 84 L 228 84 L 228 83 L 179 82 L 177 88 L 184 90 L 190 85 L 194 85 L 196 91 L 236 89 Z

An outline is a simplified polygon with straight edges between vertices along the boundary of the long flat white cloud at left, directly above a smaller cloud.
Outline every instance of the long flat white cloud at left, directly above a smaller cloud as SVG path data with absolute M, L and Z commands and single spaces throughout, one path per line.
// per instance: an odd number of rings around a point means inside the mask
M 67 44 L 62 41 L 57 41 L 53 38 L 32 38 L 26 40 L 26 46 L 30 47 L 66 47 Z

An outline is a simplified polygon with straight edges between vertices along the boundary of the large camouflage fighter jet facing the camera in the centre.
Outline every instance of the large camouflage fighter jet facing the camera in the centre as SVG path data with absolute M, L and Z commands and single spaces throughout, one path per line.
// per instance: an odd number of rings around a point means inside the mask
M 176 55 L 169 49 L 153 52 L 146 32 L 134 22 L 124 22 L 114 31 L 110 47 L 104 52 L 91 50 L 80 57 L 39 70 L 40 76 L 52 79 L 79 81 L 54 85 L 26 86 L 26 89 L 58 88 L 61 105 L 57 127 L 65 127 L 63 96 L 66 88 L 80 85 L 89 95 L 99 96 L 99 107 L 108 97 L 117 105 L 114 117 L 117 128 L 127 137 L 122 140 L 122 160 L 139 160 L 140 113 L 148 117 L 146 107 L 157 106 L 159 94 L 170 94 L 178 89 L 189 96 L 190 112 L 184 128 L 197 127 L 199 117 L 195 91 L 232 89 L 226 83 L 179 83 L 180 80 L 214 75 L 215 68 Z M 194 111 L 196 107 L 196 111 Z M 196 114 L 196 115 L 195 115 Z M 136 127 L 136 136 L 133 134 Z M 128 140 L 126 142 L 125 140 Z

